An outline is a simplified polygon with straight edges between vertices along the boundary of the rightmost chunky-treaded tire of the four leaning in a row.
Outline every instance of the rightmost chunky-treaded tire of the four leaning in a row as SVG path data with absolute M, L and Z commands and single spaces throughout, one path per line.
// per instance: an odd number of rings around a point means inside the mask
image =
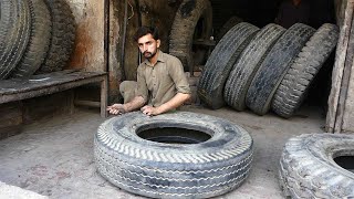
M 334 50 L 337 39 L 339 28 L 335 24 L 324 23 L 317 29 L 281 81 L 272 101 L 273 112 L 284 118 L 295 113 L 312 80 Z

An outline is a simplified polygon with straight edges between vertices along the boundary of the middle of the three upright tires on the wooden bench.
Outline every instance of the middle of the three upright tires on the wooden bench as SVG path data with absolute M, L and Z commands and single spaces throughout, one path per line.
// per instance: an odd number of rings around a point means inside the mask
M 49 49 L 52 22 L 43 0 L 29 0 L 31 11 L 31 36 L 21 61 L 11 77 L 30 77 L 41 66 Z

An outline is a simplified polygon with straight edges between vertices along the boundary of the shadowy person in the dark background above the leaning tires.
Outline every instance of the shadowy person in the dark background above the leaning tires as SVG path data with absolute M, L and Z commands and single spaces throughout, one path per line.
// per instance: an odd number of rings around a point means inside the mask
M 295 23 L 310 23 L 310 4 L 301 0 L 284 0 L 279 8 L 275 23 L 289 29 Z

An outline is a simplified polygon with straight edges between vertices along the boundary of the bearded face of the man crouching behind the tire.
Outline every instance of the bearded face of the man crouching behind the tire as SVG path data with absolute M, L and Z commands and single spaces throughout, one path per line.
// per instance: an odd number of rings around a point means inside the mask
M 137 40 L 140 52 L 147 60 L 155 56 L 159 48 L 159 40 L 155 40 L 152 34 L 146 34 Z

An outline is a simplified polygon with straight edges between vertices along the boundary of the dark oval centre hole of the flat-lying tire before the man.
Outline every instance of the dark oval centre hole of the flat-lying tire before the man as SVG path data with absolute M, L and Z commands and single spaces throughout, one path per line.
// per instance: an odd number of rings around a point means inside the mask
M 188 127 L 159 126 L 149 124 L 136 130 L 137 136 L 143 139 L 164 144 L 199 144 L 211 138 L 212 134 L 202 129 Z

